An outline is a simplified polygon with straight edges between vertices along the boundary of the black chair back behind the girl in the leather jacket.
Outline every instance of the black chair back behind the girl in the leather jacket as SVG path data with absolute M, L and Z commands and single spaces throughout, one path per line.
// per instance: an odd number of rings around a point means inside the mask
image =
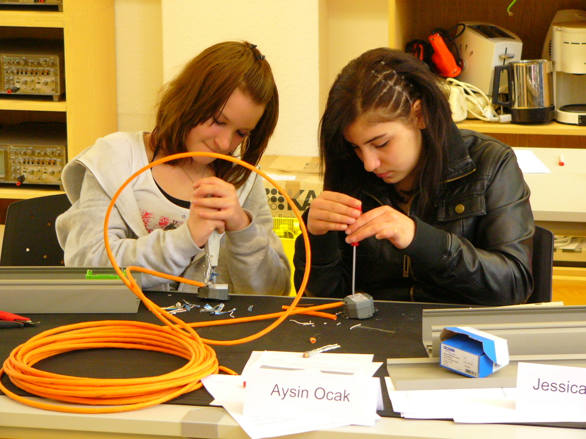
M 554 235 L 543 227 L 535 226 L 533 236 L 533 293 L 526 303 L 551 302 L 553 278 Z

